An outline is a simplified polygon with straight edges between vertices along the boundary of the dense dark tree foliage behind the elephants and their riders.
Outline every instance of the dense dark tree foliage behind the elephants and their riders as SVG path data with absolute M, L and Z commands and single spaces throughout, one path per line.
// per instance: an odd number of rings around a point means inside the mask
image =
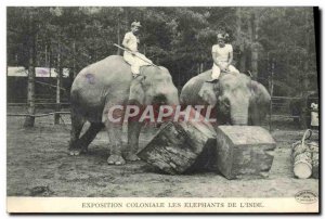
M 141 51 L 169 68 L 179 87 L 211 68 L 221 31 L 230 35 L 239 70 L 251 70 L 256 55 L 260 81 L 274 73 L 277 95 L 299 93 L 304 76 L 317 75 L 312 8 L 8 8 L 8 65 L 28 66 L 35 47 L 36 65 L 77 74 L 120 52 L 113 43 L 134 20 L 143 25 Z

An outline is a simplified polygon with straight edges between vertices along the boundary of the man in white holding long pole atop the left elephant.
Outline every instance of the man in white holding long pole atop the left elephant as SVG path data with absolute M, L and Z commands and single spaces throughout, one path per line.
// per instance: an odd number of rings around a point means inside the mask
M 141 66 L 151 65 L 153 63 L 138 51 L 138 43 L 140 43 L 138 34 L 140 27 L 140 22 L 133 22 L 131 24 L 131 31 L 126 34 L 122 41 L 122 46 L 128 50 L 123 52 L 123 59 L 131 65 L 131 72 L 134 78 L 139 76 Z

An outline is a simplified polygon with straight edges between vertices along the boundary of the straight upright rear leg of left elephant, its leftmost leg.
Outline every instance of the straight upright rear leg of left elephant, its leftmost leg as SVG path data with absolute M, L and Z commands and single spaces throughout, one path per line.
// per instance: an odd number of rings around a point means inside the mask
M 81 132 L 81 129 L 86 123 L 86 119 L 74 108 L 72 110 L 72 131 L 70 131 L 70 142 L 69 142 L 69 153 L 70 155 L 75 154 L 74 151 L 79 147 L 78 140 Z

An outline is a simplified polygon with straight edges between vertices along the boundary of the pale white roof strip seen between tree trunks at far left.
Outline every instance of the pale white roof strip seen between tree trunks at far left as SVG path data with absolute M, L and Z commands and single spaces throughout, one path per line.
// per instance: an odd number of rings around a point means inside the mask
M 36 67 L 36 77 L 40 78 L 56 78 L 56 68 L 51 68 L 51 75 L 50 75 L 50 68 L 49 67 Z M 8 66 L 6 68 L 6 75 L 9 77 L 27 77 L 28 76 L 28 70 L 23 67 L 23 66 Z M 67 78 L 69 77 L 69 68 L 63 68 L 63 77 Z

